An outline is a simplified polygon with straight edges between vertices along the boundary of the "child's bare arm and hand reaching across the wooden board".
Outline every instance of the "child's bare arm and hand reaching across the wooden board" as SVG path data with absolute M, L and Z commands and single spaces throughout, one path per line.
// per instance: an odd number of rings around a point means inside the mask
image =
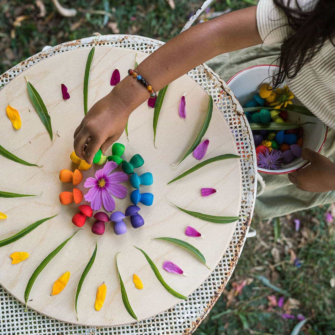
M 256 6 L 253 6 L 187 29 L 157 49 L 136 69 L 158 91 L 208 59 L 260 43 Z M 130 113 L 148 98 L 149 92 L 143 85 L 131 76 L 124 78 L 89 110 L 76 129 L 74 149 L 77 156 L 90 164 L 100 147 L 105 153 L 121 136 Z

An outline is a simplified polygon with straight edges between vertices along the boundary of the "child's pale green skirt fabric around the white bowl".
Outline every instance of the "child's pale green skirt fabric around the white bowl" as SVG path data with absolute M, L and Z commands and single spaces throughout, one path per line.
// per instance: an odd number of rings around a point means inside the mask
M 235 73 L 249 66 L 273 63 L 279 53 L 280 45 L 259 45 L 219 55 L 206 64 L 224 81 L 227 81 Z M 328 129 L 327 139 L 320 153 L 335 162 L 335 130 Z M 262 173 L 261 176 L 266 183 L 266 188 L 264 193 L 256 199 L 254 214 L 260 219 L 282 216 L 335 202 L 335 190 L 324 193 L 306 192 L 291 184 L 287 174 Z

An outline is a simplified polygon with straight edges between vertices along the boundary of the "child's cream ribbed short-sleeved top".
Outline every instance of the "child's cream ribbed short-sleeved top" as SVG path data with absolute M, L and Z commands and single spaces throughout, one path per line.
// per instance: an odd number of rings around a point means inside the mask
M 295 0 L 291 3 L 294 5 Z M 312 10 L 316 3 L 315 0 L 298 0 L 304 11 Z M 283 10 L 273 0 L 259 1 L 257 27 L 265 44 L 282 43 L 292 32 L 287 23 Z M 288 85 L 304 106 L 335 129 L 335 47 L 329 40 Z

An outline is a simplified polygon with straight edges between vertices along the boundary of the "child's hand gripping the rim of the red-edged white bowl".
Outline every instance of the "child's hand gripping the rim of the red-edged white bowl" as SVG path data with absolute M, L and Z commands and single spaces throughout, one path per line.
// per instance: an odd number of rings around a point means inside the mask
M 302 151 L 302 158 L 311 162 L 304 169 L 288 175 L 289 181 L 298 189 L 309 192 L 335 190 L 335 163 L 311 149 Z

